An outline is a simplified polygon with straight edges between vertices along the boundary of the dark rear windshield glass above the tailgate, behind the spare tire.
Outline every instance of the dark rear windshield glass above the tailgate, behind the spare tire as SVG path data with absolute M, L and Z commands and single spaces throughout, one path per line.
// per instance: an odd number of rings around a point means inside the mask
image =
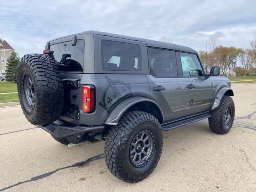
M 60 66 L 60 71 L 83 71 L 84 66 L 84 40 L 79 39 L 76 45 L 72 46 L 72 41 L 58 43 L 50 46 L 54 51 L 53 55 Z

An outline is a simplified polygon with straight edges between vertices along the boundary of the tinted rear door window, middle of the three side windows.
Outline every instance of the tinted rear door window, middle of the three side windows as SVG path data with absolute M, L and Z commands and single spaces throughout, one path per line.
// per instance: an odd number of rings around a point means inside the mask
M 149 61 L 156 77 L 176 77 L 177 64 L 174 51 L 149 48 Z

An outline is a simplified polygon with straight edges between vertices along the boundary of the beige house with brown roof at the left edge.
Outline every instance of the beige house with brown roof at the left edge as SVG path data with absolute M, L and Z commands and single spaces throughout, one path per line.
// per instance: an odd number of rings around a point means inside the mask
M 12 51 L 14 51 L 12 46 L 6 40 L 0 39 L 0 74 L 6 70 L 6 63 Z

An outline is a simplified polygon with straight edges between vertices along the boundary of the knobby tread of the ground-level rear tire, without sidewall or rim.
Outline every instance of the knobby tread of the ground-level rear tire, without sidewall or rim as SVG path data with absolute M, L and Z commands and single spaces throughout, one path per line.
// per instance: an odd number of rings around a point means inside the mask
M 119 120 L 119 123 L 112 126 L 108 132 L 104 147 L 106 165 L 114 176 L 125 182 L 136 183 L 148 177 L 154 168 L 156 168 L 156 165 L 162 154 L 161 144 L 160 154 L 156 159 L 154 166 L 150 168 L 150 171 L 146 175 L 134 177 L 127 172 L 124 165 L 124 150 L 126 141 L 128 140 L 128 136 L 132 132 L 133 128 L 145 121 L 154 122 L 158 125 L 163 144 L 163 135 L 160 123 L 156 117 L 142 111 L 132 111 L 125 113 Z

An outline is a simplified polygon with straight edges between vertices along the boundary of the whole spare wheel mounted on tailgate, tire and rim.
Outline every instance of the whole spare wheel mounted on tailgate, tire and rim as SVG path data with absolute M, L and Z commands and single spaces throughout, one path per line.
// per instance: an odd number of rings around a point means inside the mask
M 46 54 L 24 55 L 18 66 L 18 96 L 29 122 L 44 125 L 61 114 L 64 90 L 55 61 Z

